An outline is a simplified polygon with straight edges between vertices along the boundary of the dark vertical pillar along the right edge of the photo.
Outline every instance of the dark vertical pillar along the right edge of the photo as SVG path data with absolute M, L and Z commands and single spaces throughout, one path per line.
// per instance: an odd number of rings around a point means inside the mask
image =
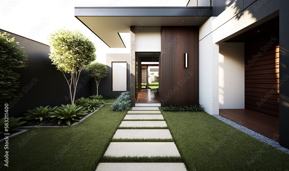
M 280 0 L 279 36 L 280 36 L 280 105 L 279 105 L 279 142 L 281 146 L 289 148 L 289 1 Z M 283 81 L 282 81 L 283 80 Z

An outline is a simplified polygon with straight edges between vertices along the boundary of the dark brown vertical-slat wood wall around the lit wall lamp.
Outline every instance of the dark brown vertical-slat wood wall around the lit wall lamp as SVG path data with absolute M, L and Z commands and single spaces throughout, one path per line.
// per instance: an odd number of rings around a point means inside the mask
M 199 104 L 199 27 L 162 26 L 161 39 L 161 105 Z M 188 68 L 184 53 L 188 53 Z

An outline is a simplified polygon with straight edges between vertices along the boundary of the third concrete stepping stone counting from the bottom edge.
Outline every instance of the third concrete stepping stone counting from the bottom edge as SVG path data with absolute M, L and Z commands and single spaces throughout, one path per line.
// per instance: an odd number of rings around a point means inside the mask
M 113 139 L 118 138 L 162 138 L 172 139 L 170 130 L 168 129 L 118 129 L 113 136 Z

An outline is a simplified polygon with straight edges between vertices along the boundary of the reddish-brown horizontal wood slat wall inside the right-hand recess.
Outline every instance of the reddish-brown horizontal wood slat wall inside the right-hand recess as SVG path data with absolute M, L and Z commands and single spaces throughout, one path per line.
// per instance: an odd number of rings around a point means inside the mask
M 245 108 L 279 117 L 279 32 L 276 29 L 245 42 Z

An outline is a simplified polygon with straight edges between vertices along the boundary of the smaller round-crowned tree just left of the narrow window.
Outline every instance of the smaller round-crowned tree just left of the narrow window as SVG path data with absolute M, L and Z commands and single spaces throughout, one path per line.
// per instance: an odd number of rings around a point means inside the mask
M 92 62 L 87 66 L 88 74 L 95 78 L 97 95 L 98 95 L 98 85 L 100 80 L 108 75 L 108 68 L 105 64 L 99 62 Z

